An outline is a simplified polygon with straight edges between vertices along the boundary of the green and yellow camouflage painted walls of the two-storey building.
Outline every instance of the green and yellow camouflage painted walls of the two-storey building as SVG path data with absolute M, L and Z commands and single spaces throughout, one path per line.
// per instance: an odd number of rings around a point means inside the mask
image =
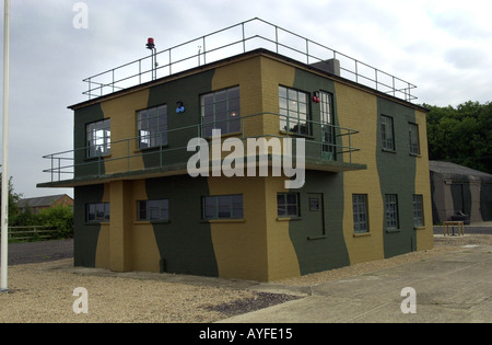
M 75 147 L 85 146 L 87 123 L 110 118 L 112 140 L 125 142 L 112 145 L 112 157 L 136 152 L 125 161 L 104 160 L 102 179 L 75 187 L 75 265 L 276 280 L 432 248 L 422 110 L 265 51 L 178 77 L 75 108 Z M 160 152 L 150 150 L 142 156 L 134 141 L 126 141 L 137 136 L 139 110 L 167 104 L 169 129 L 198 125 L 200 95 L 234 85 L 239 85 L 242 116 L 279 113 L 279 85 L 306 92 L 309 97 L 315 91 L 333 94 L 333 122 L 360 131 L 352 145 L 361 151 L 353 153 L 352 161 L 366 169 L 308 170 L 301 189 L 286 191 L 284 176 L 192 179 L 183 171 L 174 176 L 168 171 L 151 173 L 149 169 L 161 164 Z M 174 112 L 177 101 L 185 103 L 186 113 Z M 309 102 L 308 111 L 312 119 L 320 119 L 319 104 Z M 382 114 L 395 118 L 395 152 L 380 148 Z M 419 157 L 409 154 L 409 122 L 420 126 Z M 248 130 L 248 135 L 280 135 L 279 120 L 258 117 Z M 320 135 L 315 131 L 312 137 L 319 139 Z M 189 138 L 169 134 L 167 148 L 186 146 Z M 347 137 L 337 140 L 348 146 Z M 178 152 L 173 154 L 167 164 L 187 160 Z M 337 159 L 338 163 L 348 160 L 343 154 Z M 84 161 L 84 154 L 79 153 L 77 160 Z M 92 179 L 101 166 L 94 169 L 85 165 L 78 177 Z M 119 174 L 126 169 L 131 174 Z M 278 217 L 278 194 L 286 192 L 298 195 L 300 217 L 295 219 Z M 399 200 L 400 227 L 394 232 L 385 229 L 384 195 L 388 193 L 397 194 Z M 243 195 L 244 219 L 202 219 L 203 196 L 231 194 Z M 353 230 L 353 194 L 368 197 L 370 231 L 364 234 Z M 418 230 L 413 229 L 413 194 L 423 195 L 424 200 L 425 225 Z M 161 198 L 169 200 L 169 220 L 139 221 L 138 202 Z M 311 207 L 313 199 L 319 202 L 319 208 Z M 110 203 L 110 221 L 87 225 L 86 205 L 99 202 Z

